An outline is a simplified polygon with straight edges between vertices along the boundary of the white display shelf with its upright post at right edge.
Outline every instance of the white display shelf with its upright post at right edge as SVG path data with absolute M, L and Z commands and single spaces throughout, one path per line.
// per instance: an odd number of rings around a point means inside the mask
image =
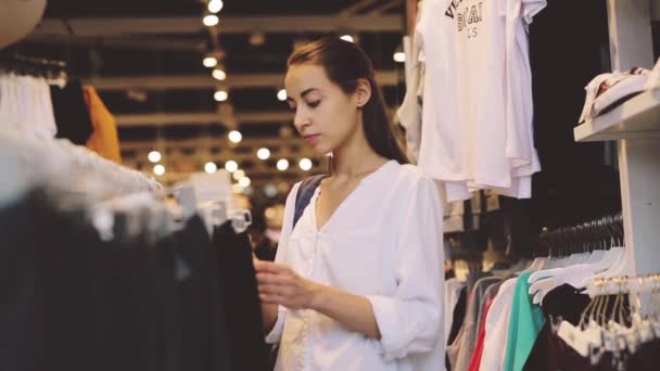
M 612 71 L 652 68 L 651 2 L 607 0 Z M 634 97 L 574 129 L 575 141 L 617 140 L 625 272 L 660 272 L 660 90 Z

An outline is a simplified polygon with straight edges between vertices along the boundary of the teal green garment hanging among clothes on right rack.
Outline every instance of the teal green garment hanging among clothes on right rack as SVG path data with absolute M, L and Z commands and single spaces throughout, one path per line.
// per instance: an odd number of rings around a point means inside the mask
M 530 284 L 528 279 L 532 272 L 520 274 L 516 280 L 516 292 L 511 302 L 511 320 L 509 321 L 509 336 L 507 338 L 507 353 L 504 361 L 505 371 L 520 371 L 528 360 L 545 317 L 540 306 L 532 303 L 532 295 L 528 294 Z

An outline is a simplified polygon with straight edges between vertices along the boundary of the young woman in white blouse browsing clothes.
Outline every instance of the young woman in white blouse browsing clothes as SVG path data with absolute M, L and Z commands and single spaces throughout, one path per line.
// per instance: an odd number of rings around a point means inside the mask
M 275 263 L 255 260 L 276 370 L 444 370 L 442 210 L 406 165 L 371 62 L 339 38 L 289 59 L 294 125 L 332 175 L 293 225 L 287 201 Z

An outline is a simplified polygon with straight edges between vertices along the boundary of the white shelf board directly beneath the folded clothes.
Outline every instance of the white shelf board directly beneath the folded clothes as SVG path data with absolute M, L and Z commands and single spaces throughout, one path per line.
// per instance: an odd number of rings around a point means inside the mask
M 575 141 L 660 138 L 660 89 L 645 91 L 573 129 Z

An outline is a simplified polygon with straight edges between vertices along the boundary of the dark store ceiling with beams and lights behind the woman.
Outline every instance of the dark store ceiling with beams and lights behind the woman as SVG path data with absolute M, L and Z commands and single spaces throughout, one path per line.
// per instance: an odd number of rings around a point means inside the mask
M 356 36 L 388 105 L 403 99 L 403 65 L 392 59 L 403 36 L 403 0 L 225 0 L 213 29 L 202 24 L 205 12 L 206 3 L 193 0 L 51 0 L 21 48 L 66 61 L 69 75 L 96 86 L 117 118 L 125 164 L 149 171 L 147 153 L 160 150 L 165 182 L 208 161 L 238 161 L 257 187 L 306 175 L 296 164 L 312 153 L 277 99 L 295 42 Z M 213 50 L 225 52 L 223 82 L 202 65 Z M 228 91 L 226 102 L 214 100 L 217 88 Z M 239 144 L 227 140 L 233 129 L 243 135 Z M 271 150 L 270 161 L 256 158 L 262 146 Z M 279 158 L 292 162 L 287 171 L 276 169 Z M 315 159 L 313 171 L 322 171 L 322 163 Z

